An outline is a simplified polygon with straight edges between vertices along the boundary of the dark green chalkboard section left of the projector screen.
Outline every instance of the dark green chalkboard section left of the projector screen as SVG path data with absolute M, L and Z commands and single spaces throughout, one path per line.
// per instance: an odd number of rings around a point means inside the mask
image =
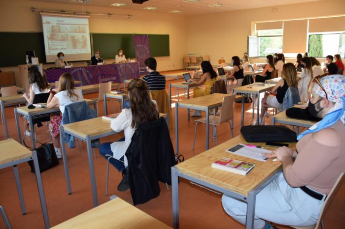
M 25 64 L 25 52 L 30 50 L 45 63 L 43 32 L 0 32 L 0 50 L 0 67 Z

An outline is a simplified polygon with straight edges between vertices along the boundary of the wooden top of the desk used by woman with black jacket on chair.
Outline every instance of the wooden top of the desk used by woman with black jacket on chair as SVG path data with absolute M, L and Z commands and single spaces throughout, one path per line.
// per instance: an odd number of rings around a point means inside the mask
M 167 114 L 159 114 L 160 117 L 166 117 Z M 85 139 L 86 135 L 91 137 L 107 134 L 113 130 L 110 128 L 110 120 L 96 117 L 80 122 L 73 122 L 64 125 L 64 130 L 73 133 L 75 136 Z

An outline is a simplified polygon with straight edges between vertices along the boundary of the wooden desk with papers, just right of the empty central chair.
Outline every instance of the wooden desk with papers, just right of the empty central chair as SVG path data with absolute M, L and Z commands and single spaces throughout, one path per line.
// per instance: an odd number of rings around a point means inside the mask
M 258 104 L 257 104 L 257 113 L 256 113 L 256 122 L 259 123 L 259 117 L 260 117 L 260 93 L 265 92 L 268 90 L 271 90 L 274 86 L 272 84 L 265 84 L 264 86 L 258 86 L 258 85 L 246 85 L 246 86 L 240 86 L 240 87 L 235 87 L 232 89 L 232 91 L 236 93 L 246 93 L 246 94 L 251 94 L 253 95 L 253 117 L 254 117 L 254 109 L 255 109 L 255 96 L 258 99 Z M 244 112 L 244 111 L 242 111 Z M 243 117 L 243 115 L 242 115 Z

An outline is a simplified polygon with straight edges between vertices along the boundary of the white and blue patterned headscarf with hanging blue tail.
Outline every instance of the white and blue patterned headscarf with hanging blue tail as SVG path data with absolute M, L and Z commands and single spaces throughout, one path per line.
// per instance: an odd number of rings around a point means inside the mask
M 297 140 L 300 140 L 303 136 L 318 132 L 324 128 L 334 125 L 339 119 L 345 124 L 345 76 L 343 75 L 330 75 L 321 78 L 321 85 L 327 92 L 329 101 L 335 102 L 328 113 L 322 118 L 321 121 L 312 125 L 308 130 L 304 131 L 297 136 Z M 318 84 L 314 84 L 312 92 L 325 98 L 325 92 Z

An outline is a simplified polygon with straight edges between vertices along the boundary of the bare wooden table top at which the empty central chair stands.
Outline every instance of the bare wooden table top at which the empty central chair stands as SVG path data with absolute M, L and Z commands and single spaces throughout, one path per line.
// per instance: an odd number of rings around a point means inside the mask
M 223 103 L 224 96 L 230 96 L 230 94 L 214 93 L 197 98 L 186 99 L 178 102 L 178 106 L 201 109 L 206 109 L 206 107 L 220 107 Z

